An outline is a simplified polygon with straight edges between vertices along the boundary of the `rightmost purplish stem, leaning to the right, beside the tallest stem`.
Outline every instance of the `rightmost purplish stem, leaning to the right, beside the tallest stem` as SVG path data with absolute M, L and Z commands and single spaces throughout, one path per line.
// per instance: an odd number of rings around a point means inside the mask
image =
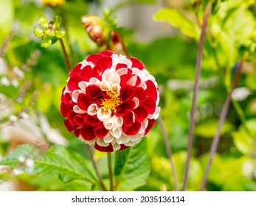
M 232 83 L 231 90 L 229 91 L 228 96 L 226 96 L 226 101 L 224 103 L 224 107 L 221 110 L 221 116 L 220 116 L 220 118 L 218 120 L 217 131 L 215 133 L 214 138 L 212 139 L 212 145 L 211 145 L 211 149 L 210 149 L 210 157 L 209 157 L 208 162 L 207 162 L 207 168 L 206 168 L 206 170 L 204 172 L 204 178 L 203 178 L 203 180 L 201 182 L 200 191 L 203 191 L 204 188 L 205 188 L 205 185 L 206 185 L 206 182 L 207 182 L 207 177 L 208 177 L 208 174 L 209 174 L 209 171 L 210 171 L 210 166 L 212 165 L 212 159 L 213 159 L 213 156 L 214 156 L 214 154 L 216 152 L 216 149 L 217 149 L 217 146 L 218 146 L 218 142 L 219 142 L 219 140 L 221 138 L 221 127 L 224 124 L 224 120 L 225 120 L 226 115 L 227 115 L 228 110 L 229 110 L 229 105 L 230 105 L 231 98 L 232 98 L 232 92 L 235 89 L 235 86 L 238 84 L 238 81 L 239 81 L 239 79 L 241 77 L 241 71 L 242 71 L 243 63 L 244 63 L 245 59 L 246 59 L 246 55 L 244 55 L 241 58 L 241 62 L 240 62 L 239 68 L 238 68 L 238 72 L 235 75 L 235 79 L 234 79 L 234 81 Z

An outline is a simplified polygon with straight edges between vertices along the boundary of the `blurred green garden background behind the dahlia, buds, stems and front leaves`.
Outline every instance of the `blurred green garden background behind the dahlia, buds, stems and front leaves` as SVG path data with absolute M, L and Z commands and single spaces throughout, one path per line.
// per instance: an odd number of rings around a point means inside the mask
M 217 1 L 216 1 L 217 2 Z M 205 1 L 197 0 L 0 0 L 0 160 L 22 143 L 42 149 L 63 144 L 88 158 L 86 147 L 66 130 L 60 116 L 60 95 L 68 73 L 59 43 L 41 48 L 33 28 L 38 15 L 63 18 L 72 68 L 99 51 L 81 23 L 82 15 L 103 16 L 108 8 L 117 18 L 128 52 L 156 77 L 161 116 L 170 140 L 181 186 L 187 155 L 187 136 L 198 38 L 187 35 L 186 23 L 199 30 Z M 212 11 L 204 46 L 198 94 L 193 158 L 187 189 L 198 191 L 232 78 L 243 52 L 249 52 L 238 87 L 221 130 L 218 152 L 207 182 L 208 191 L 256 191 L 256 7 L 255 1 L 218 1 Z M 173 27 L 153 21 L 162 7 L 179 14 Z M 187 23 L 188 22 L 188 23 Z M 197 31 L 197 30 L 196 30 Z M 151 171 L 136 191 L 173 191 L 170 163 L 159 124 L 147 135 Z M 108 177 L 104 153 L 95 157 Z M 80 182 L 64 185 L 55 175 L 29 177 L 0 166 L 0 191 L 83 191 Z

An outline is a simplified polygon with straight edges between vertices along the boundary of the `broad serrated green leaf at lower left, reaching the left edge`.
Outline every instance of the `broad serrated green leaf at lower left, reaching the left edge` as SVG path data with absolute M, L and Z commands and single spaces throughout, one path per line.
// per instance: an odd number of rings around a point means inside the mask
M 18 146 L 11 154 L 5 157 L 0 164 L 6 166 L 17 166 L 18 157 L 32 157 L 35 149 L 29 144 Z M 72 180 L 84 180 L 93 185 L 97 184 L 93 168 L 88 160 L 84 159 L 80 154 L 70 152 L 64 146 L 55 145 L 46 150 L 43 154 L 36 155 L 34 158 L 35 168 L 34 175 L 58 174 L 63 182 Z

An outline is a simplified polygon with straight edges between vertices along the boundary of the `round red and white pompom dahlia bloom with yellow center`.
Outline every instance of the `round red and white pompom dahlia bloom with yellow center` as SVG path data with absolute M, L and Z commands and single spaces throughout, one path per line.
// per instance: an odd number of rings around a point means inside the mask
M 61 96 L 64 124 L 102 152 L 133 146 L 148 134 L 160 107 L 156 81 L 134 57 L 101 51 L 69 73 Z

